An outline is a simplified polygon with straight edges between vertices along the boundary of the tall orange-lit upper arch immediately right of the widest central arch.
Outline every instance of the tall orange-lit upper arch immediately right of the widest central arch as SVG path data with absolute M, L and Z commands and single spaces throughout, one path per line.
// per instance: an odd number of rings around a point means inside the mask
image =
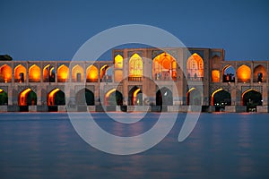
M 196 53 L 187 59 L 187 78 L 191 81 L 203 81 L 204 60 Z

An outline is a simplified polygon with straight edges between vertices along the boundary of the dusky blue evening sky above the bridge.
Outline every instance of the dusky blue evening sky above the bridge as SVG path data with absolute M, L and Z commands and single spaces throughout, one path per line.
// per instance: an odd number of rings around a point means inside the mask
M 268 61 L 268 8 L 266 0 L 0 0 L 0 54 L 71 60 L 103 30 L 145 24 L 169 31 L 187 47 L 224 48 L 225 60 Z

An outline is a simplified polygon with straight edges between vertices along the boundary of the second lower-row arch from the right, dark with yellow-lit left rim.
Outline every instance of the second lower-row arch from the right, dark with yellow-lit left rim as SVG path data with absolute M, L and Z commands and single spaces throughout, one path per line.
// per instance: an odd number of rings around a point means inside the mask
M 211 95 L 211 105 L 212 106 L 230 106 L 231 98 L 230 92 L 219 89 L 215 90 Z

